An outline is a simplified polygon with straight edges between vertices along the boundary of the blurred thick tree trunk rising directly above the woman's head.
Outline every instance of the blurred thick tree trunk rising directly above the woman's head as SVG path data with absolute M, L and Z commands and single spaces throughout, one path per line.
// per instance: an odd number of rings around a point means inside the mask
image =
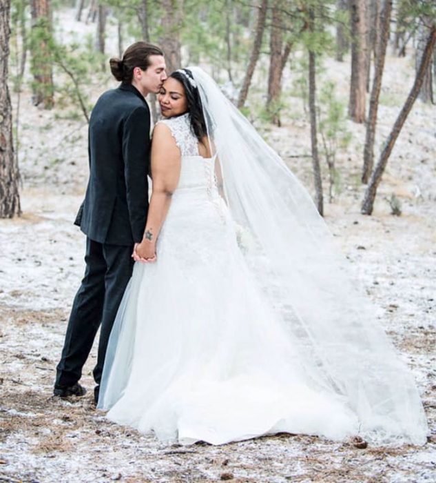
M 183 20 L 183 0 L 174 2 L 172 0 L 162 0 L 163 7 L 163 37 L 160 45 L 165 54 L 168 72 L 180 68 L 182 63 L 182 54 L 180 50 L 180 24 Z

